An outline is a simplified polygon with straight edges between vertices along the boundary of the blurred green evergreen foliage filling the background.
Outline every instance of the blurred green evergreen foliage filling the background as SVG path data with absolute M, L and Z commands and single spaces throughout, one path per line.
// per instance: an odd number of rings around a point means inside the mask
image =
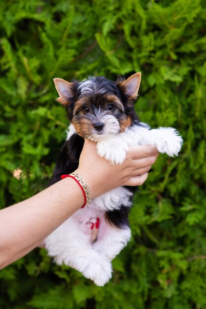
M 54 77 L 141 71 L 141 120 L 184 138 L 135 196 L 105 287 L 36 249 L 1 270 L 0 308 L 205 309 L 205 1 L 1 0 L 0 55 L 1 207 L 48 184 L 68 126 Z

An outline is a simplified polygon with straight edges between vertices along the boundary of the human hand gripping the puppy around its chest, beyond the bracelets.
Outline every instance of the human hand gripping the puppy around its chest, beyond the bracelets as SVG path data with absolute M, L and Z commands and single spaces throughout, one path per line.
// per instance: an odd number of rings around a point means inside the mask
M 120 186 L 141 186 L 158 155 L 154 146 L 132 146 L 122 164 L 112 165 L 97 154 L 95 143 L 85 140 L 76 172 L 83 177 L 94 198 Z

